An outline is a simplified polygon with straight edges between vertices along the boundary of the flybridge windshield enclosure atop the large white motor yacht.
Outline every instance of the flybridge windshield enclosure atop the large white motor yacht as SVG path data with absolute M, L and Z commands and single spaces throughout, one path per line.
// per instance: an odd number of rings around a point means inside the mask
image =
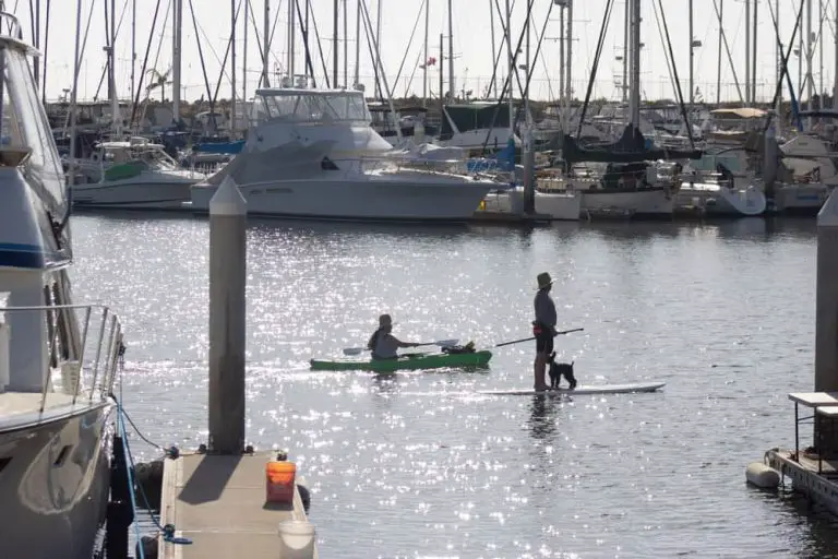
M 362 123 L 372 120 L 362 92 L 262 90 L 256 93 L 251 118 L 255 123 L 287 120 L 298 123 Z

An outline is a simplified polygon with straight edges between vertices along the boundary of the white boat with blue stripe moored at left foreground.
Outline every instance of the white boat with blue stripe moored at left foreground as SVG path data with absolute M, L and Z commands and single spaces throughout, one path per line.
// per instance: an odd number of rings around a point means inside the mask
M 0 13 L 0 546 L 93 556 L 109 497 L 119 321 L 73 305 L 63 171 L 29 70 Z M 15 32 L 15 33 L 12 33 Z

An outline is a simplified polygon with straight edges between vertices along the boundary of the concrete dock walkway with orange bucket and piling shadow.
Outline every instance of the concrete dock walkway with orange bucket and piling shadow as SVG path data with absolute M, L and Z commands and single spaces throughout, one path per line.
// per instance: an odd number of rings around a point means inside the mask
M 265 502 L 268 454 L 184 454 L 166 459 L 160 524 L 176 537 L 158 537 L 161 559 L 261 559 L 280 557 L 279 523 L 307 520 L 299 490 L 292 504 Z M 316 546 L 314 557 L 318 557 Z

